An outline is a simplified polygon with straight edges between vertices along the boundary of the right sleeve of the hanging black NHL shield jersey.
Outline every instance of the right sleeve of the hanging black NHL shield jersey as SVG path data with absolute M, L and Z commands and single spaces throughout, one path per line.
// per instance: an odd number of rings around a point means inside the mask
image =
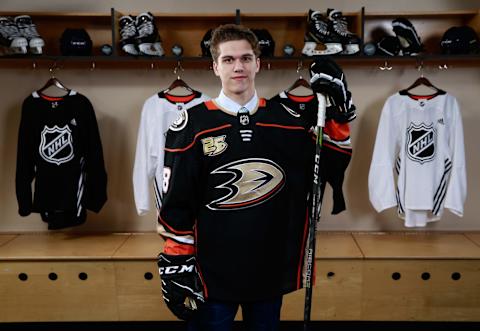
M 103 158 L 102 141 L 97 118 L 90 101 L 83 97 L 87 116 L 87 148 L 85 153 L 86 204 L 85 207 L 98 213 L 107 201 L 107 172 Z

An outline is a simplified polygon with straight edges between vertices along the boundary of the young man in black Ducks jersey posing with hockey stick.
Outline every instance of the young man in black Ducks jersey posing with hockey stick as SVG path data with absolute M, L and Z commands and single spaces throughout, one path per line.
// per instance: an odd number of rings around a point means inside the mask
M 311 123 L 257 96 L 255 35 L 239 25 L 211 39 L 222 90 L 185 111 L 165 148 L 159 255 L 165 302 L 189 330 L 278 330 L 282 296 L 302 286 Z

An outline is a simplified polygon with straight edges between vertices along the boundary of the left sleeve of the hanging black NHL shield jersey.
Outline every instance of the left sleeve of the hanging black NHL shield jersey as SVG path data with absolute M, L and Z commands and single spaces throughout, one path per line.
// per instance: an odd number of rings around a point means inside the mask
M 17 169 L 15 175 L 15 187 L 18 201 L 18 213 L 28 216 L 32 212 L 32 181 L 35 177 L 35 164 L 33 158 L 34 137 L 32 121 L 30 118 L 29 99 L 22 105 L 22 115 L 18 130 L 17 145 Z

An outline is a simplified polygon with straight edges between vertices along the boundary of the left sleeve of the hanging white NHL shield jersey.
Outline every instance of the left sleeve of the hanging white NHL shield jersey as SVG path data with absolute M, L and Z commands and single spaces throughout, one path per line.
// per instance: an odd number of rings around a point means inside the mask
M 397 205 L 395 195 L 394 163 L 397 154 L 395 119 L 392 114 L 391 98 L 382 109 L 375 138 L 368 191 L 370 202 L 377 212 Z

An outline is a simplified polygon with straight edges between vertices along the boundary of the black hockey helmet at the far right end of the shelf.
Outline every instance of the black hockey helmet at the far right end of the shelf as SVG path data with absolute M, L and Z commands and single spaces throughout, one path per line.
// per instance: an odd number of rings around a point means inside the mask
M 440 46 L 444 54 L 471 54 L 478 52 L 480 42 L 471 27 L 454 26 L 445 31 Z

